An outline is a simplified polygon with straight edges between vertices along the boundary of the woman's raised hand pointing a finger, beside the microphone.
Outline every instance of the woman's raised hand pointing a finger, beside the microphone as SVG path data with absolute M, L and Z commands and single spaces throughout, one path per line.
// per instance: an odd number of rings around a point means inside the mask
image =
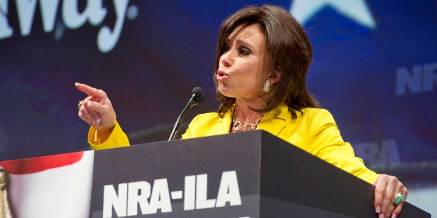
M 74 85 L 78 90 L 88 94 L 79 108 L 79 117 L 97 129 L 102 141 L 105 141 L 116 126 L 117 117 L 111 101 L 103 90 L 81 83 L 74 83 Z

